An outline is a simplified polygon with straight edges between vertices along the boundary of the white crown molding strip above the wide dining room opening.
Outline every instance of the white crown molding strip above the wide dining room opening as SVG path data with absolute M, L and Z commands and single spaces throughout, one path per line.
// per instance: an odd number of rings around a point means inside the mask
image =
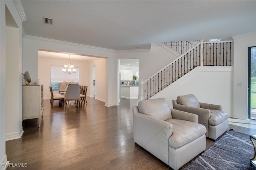
M 40 41 L 48 41 L 48 42 L 54 42 L 54 43 L 62 43 L 62 44 L 67 44 L 67 45 L 76 45 L 76 46 L 80 46 L 80 47 L 87 47 L 87 48 L 92 48 L 92 49 L 97 49 L 97 50 L 104 50 L 104 51 L 110 51 L 110 52 L 114 52 L 114 50 L 112 49 L 105 49 L 105 48 L 101 48 L 101 47 L 94 47 L 94 46 L 90 46 L 90 45 L 83 45 L 83 44 L 78 44 L 78 43 L 71 43 L 71 42 L 67 42 L 67 41 L 60 41 L 60 40 L 56 40 L 56 39 L 49 39 L 49 38 L 43 38 L 43 37 L 36 37 L 33 35 L 25 35 L 24 37 L 25 39 L 34 39 L 34 40 L 40 40 Z

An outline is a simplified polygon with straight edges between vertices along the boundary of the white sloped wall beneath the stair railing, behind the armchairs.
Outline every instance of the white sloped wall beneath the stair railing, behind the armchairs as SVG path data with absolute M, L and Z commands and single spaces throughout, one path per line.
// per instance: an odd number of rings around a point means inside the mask
M 166 98 L 172 108 L 177 96 L 194 94 L 199 102 L 222 105 L 232 114 L 232 66 L 198 66 L 152 98 Z

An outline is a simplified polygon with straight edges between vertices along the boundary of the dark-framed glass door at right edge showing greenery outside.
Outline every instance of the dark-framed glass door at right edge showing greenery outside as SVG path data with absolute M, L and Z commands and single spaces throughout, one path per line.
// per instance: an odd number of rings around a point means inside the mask
M 248 47 L 248 119 L 256 120 L 256 46 Z

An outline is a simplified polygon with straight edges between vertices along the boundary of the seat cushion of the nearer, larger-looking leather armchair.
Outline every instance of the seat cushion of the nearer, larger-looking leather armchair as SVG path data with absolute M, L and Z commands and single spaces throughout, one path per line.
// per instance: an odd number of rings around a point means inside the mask
M 172 136 L 169 138 L 169 146 L 172 148 L 180 148 L 206 133 L 206 127 L 195 122 L 179 119 L 166 121 L 172 123 Z

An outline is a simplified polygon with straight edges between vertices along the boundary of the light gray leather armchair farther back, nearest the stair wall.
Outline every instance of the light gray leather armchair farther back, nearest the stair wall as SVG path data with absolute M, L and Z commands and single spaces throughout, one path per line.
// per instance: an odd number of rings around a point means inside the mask
M 229 114 L 222 111 L 222 106 L 198 102 L 193 94 L 178 96 L 172 100 L 174 109 L 198 115 L 198 123 L 207 129 L 206 137 L 216 140 L 228 130 Z

